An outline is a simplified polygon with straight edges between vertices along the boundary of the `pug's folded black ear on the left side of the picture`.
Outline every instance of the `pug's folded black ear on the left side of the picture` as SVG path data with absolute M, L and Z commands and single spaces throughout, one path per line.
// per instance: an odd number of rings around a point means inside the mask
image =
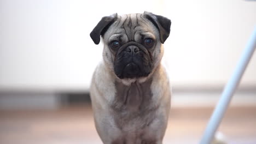
M 101 21 L 98 22 L 97 26 L 91 31 L 90 37 L 97 45 L 100 43 L 101 35 L 107 31 L 110 25 L 117 19 L 117 14 L 113 14 L 111 16 L 102 17 Z

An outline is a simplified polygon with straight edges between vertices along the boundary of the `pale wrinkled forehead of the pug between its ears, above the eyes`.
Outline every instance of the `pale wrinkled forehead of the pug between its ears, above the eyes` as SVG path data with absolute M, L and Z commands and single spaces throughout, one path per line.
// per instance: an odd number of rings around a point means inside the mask
M 141 37 L 156 39 L 158 35 L 158 29 L 143 14 L 129 14 L 118 16 L 104 34 L 104 40 L 137 41 Z

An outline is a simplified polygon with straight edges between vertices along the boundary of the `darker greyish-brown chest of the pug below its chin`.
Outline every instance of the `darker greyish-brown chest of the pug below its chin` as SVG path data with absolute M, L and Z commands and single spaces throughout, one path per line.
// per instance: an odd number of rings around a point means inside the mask
M 130 86 L 115 83 L 117 94 L 112 104 L 112 116 L 120 129 L 136 130 L 149 125 L 154 118 L 152 80 L 144 83 L 134 82 Z

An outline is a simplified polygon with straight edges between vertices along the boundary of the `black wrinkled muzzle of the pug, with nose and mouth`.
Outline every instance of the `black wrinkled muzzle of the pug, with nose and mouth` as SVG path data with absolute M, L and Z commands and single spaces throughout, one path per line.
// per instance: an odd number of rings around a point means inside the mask
M 134 41 L 122 45 L 115 56 L 114 71 L 120 79 L 148 76 L 151 67 L 150 53 Z

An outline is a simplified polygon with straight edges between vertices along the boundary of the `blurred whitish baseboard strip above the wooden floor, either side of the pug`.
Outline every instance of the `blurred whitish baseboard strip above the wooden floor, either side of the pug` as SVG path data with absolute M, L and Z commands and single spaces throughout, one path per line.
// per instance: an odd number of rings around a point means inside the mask
M 174 91 L 171 105 L 172 107 L 214 107 L 220 94 L 219 91 L 208 90 Z M 0 109 L 56 109 L 62 105 L 61 98 L 57 93 L 0 93 Z M 236 92 L 230 106 L 256 106 L 256 92 Z

